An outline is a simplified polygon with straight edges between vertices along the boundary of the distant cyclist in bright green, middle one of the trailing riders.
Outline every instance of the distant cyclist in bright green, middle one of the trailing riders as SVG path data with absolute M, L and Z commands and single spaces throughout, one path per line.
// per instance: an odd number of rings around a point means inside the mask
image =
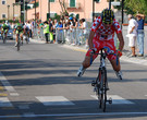
M 14 27 L 14 34 L 16 34 L 16 41 L 15 41 L 15 47 L 17 47 L 17 39 L 19 39 L 19 34 L 23 44 L 23 35 L 24 35 L 24 27 L 21 23 L 17 23 L 16 26 Z

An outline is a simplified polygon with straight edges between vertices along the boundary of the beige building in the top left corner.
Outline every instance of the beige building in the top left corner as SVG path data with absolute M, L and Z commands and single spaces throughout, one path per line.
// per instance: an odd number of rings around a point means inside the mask
M 0 0 L 0 20 L 20 20 L 20 8 L 15 0 Z

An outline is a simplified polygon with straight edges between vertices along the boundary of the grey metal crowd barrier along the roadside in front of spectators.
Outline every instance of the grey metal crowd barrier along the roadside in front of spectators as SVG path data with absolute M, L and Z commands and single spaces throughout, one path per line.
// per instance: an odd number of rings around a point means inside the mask
M 146 40 L 147 39 L 147 26 L 145 26 L 144 33 L 145 33 L 144 51 L 145 51 L 145 56 L 147 56 L 147 40 Z M 126 37 L 127 26 L 122 26 L 122 34 L 124 37 L 124 50 L 131 51 L 131 48 L 128 47 L 128 38 Z M 81 29 L 81 28 L 56 29 L 54 35 L 56 35 L 56 43 L 58 43 L 58 44 L 85 46 L 86 39 L 88 39 L 88 36 L 89 36 L 89 28 L 87 28 L 87 29 Z M 45 40 L 44 29 L 41 29 L 40 32 L 38 32 L 38 28 L 34 29 L 34 38 Z M 119 40 L 117 38 L 117 35 L 114 35 L 114 44 L 115 44 L 115 47 L 118 48 Z M 137 39 L 136 39 L 136 52 L 138 52 Z

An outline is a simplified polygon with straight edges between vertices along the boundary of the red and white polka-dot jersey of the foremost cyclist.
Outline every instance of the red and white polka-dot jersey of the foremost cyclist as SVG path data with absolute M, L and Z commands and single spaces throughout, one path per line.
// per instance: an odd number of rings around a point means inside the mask
M 117 34 L 121 33 L 121 27 L 119 25 L 119 22 L 115 21 L 115 19 L 113 20 L 113 23 L 110 27 L 106 28 L 103 25 L 102 25 L 102 20 L 101 20 L 101 16 L 98 16 L 91 27 L 90 27 L 90 31 L 95 32 L 95 37 L 94 39 L 95 40 L 113 40 L 113 37 L 114 37 L 114 32 Z

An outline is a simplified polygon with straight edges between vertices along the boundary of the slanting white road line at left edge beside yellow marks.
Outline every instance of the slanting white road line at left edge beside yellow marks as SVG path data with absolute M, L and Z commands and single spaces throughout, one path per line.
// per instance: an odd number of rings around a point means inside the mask
M 4 75 L 1 72 L 0 72 L 0 81 L 1 81 L 2 85 L 5 87 L 5 89 L 9 93 L 16 93 L 16 91 L 14 89 L 14 87 L 11 86 L 11 84 L 9 83 L 9 81 L 4 77 Z

